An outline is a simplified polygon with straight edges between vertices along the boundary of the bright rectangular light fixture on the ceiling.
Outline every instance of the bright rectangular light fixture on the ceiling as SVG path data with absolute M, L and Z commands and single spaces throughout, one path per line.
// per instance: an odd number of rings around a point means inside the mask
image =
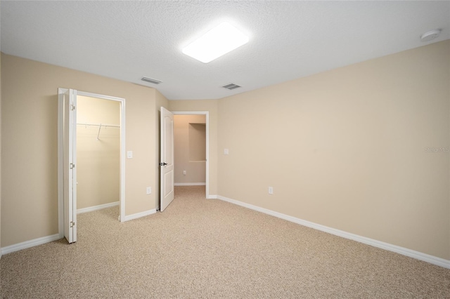
M 247 44 L 247 42 L 248 36 L 230 25 L 229 22 L 222 22 L 184 47 L 183 53 L 196 60 L 208 63 L 243 44 Z

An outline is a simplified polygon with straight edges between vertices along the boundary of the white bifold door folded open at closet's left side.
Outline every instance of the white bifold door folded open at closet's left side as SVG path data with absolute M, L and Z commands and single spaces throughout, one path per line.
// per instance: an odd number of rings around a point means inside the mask
M 63 209 L 64 237 L 69 243 L 77 241 L 77 91 L 60 88 L 63 105 Z

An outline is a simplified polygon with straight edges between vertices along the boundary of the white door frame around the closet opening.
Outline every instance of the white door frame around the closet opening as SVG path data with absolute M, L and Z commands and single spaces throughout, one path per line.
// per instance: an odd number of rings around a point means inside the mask
M 64 159 L 63 159 L 63 99 L 61 93 L 68 91 L 69 88 L 58 88 L 58 234 L 60 238 L 64 237 Z M 88 93 L 86 91 L 77 91 L 77 95 L 91 98 L 100 98 L 103 100 L 114 100 L 120 102 L 120 215 L 121 222 L 125 219 L 125 99 L 110 95 L 101 95 L 98 93 Z M 77 109 L 75 107 L 75 112 Z M 77 138 L 74 135 L 73 138 Z M 76 168 L 75 168 L 76 169 Z M 75 210 L 74 213 L 77 213 Z

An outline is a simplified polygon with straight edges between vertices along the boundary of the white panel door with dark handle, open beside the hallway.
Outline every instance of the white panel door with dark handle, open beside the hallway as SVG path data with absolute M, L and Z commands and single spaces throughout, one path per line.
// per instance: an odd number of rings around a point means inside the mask
M 174 200 L 174 114 L 161 107 L 160 211 Z

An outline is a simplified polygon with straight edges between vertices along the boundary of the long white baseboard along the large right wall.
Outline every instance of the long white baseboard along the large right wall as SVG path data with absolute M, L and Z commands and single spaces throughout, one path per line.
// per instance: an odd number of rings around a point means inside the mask
M 408 249 L 408 248 L 404 248 L 404 247 L 400 247 L 400 246 L 397 246 L 397 245 L 385 243 L 383 241 L 378 241 L 378 240 L 375 240 L 375 239 L 362 237 L 362 236 L 359 236 L 357 234 L 352 234 L 352 233 L 345 232 L 345 231 L 342 231 L 342 230 L 336 230 L 335 228 L 332 228 L 332 227 L 327 227 L 325 225 L 319 225 L 319 224 L 314 223 L 314 222 L 310 222 L 310 221 L 307 221 L 307 220 L 302 220 L 300 218 L 295 218 L 293 216 L 285 215 L 285 214 L 278 213 L 278 212 L 275 212 L 275 211 L 271 211 L 271 210 L 268 210 L 266 208 L 260 208 L 259 206 L 253 206 L 252 204 L 246 204 L 245 202 L 237 201 L 237 200 L 234 200 L 234 199 L 229 199 L 227 197 L 222 197 L 220 195 L 217 195 L 216 197 L 217 197 L 217 199 L 220 199 L 220 200 L 223 200 L 223 201 L 227 201 L 227 202 L 229 202 L 231 204 L 236 204 L 238 206 L 243 206 L 245 208 L 250 208 L 252 210 L 259 211 L 261 213 L 265 213 L 265 214 L 268 214 L 268 215 L 275 216 L 277 218 L 288 220 L 290 222 L 295 222 L 295 223 L 297 223 L 299 225 L 304 225 L 306 227 L 314 228 L 314 230 L 320 230 L 322 232 L 328 232 L 328 234 L 334 234 L 335 236 L 343 237 L 345 239 L 350 239 L 350 240 L 357 241 L 357 242 L 360 242 L 360 243 L 363 243 L 363 244 L 367 244 L 367 245 L 371 245 L 371 246 L 374 246 L 374 247 L 382 248 L 382 249 L 385 249 L 387 251 L 392 251 L 392 252 L 395 252 L 395 253 L 399 253 L 401 255 L 409 256 L 410 258 L 416 258 L 417 260 L 423 260 L 424 262 L 427 262 L 427 263 L 430 263 L 430 264 L 433 264 L 433 265 L 438 265 L 438 266 L 450 269 L 450 260 L 445 260 L 444 258 L 438 258 L 437 256 L 434 256 L 434 255 L 429 255 L 427 253 L 421 253 L 419 251 L 413 251 L 413 250 Z

